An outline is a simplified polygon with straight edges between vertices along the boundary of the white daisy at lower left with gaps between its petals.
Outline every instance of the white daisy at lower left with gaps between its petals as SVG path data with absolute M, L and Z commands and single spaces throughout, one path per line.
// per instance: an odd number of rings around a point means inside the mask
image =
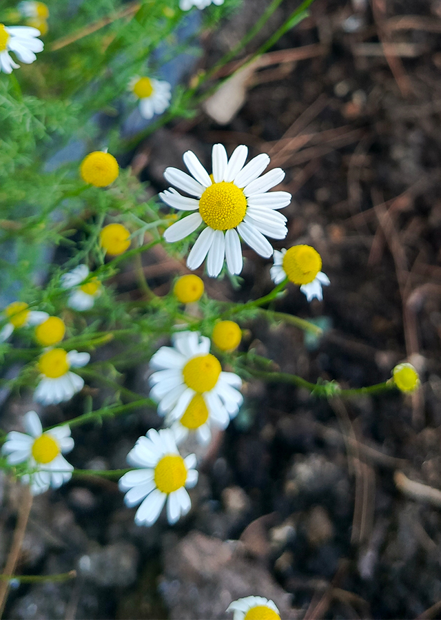
M 9 465 L 28 462 L 34 471 L 21 477 L 21 482 L 30 484 L 32 495 L 38 495 L 52 488 L 59 488 L 72 477 L 73 466 L 62 454 L 74 447 L 68 424 L 57 426 L 43 433 L 40 418 L 35 411 L 28 411 L 23 419 L 26 433 L 11 431 L 1 451 Z

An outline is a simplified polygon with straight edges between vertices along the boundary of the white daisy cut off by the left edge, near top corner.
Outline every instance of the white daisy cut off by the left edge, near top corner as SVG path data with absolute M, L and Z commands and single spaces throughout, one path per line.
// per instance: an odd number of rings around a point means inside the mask
M 19 69 L 9 55 L 14 52 L 22 63 L 29 65 L 37 59 L 34 52 L 43 50 L 43 41 L 37 39 L 40 31 L 30 26 L 6 26 L 0 23 L 0 72 L 12 73 L 12 69 Z

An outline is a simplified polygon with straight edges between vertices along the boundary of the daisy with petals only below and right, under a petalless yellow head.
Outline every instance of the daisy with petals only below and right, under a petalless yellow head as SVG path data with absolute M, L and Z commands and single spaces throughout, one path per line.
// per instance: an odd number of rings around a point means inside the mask
M 34 400 L 44 405 L 70 400 L 84 385 L 83 378 L 72 373 L 70 367 L 81 368 L 89 360 L 89 353 L 68 353 L 64 349 L 45 351 L 38 363 L 41 381 L 34 391 Z

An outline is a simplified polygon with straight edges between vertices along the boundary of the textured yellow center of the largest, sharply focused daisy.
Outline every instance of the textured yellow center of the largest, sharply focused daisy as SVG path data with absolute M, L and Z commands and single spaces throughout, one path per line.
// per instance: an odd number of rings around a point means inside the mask
M 245 218 L 247 198 L 234 183 L 213 183 L 199 200 L 199 213 L 214 230 L 235 228 Z

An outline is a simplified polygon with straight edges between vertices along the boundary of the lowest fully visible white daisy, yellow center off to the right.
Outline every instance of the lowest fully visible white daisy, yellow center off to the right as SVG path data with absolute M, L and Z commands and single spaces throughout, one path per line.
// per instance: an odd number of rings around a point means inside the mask
M 192 504 L 185 487 L 192 488 L 198 482 L 196 456 L 181 457 L 169 428 L 150 428 L 128 453 L 127 462 L 141 468 L 128 471 L 119 480 L 119 488 L 127 491 L 127 506 L 136 506 L 142 500 L 135 514 L 136 525 L 154 524 L 166 500 L 170 525 L 188 513 Z

